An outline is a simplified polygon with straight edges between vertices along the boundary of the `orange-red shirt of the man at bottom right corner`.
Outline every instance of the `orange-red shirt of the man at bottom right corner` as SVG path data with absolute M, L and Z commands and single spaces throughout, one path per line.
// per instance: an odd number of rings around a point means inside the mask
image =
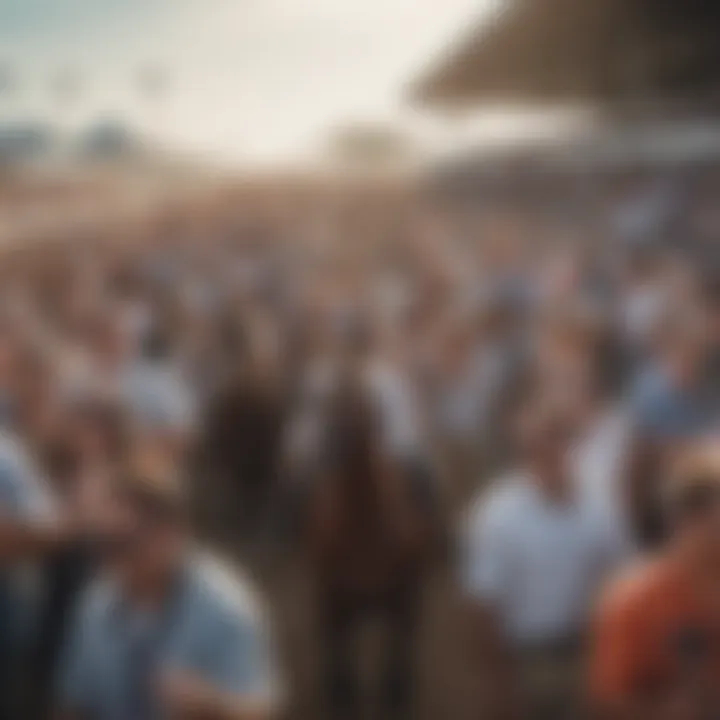
M 720 686 L 720 600 L 702 602 L 669 559 L 635 570 L 600 609 L 591 687 L 602 704 L 624 704 L 688 683 Z

